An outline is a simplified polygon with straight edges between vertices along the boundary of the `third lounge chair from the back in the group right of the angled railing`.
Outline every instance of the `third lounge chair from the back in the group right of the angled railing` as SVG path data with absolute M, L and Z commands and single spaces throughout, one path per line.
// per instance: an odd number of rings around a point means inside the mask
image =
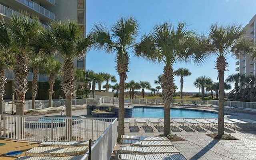
M 174 146 L 153 146 L 153 147 L 132 147 L 120 146 L 120 153 L 129 152 L 131 154 L 173 154 L 180 152 Z

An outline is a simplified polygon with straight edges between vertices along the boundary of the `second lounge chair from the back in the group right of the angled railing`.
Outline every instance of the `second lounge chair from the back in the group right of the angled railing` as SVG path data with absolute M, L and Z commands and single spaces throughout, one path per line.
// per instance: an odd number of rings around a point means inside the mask
M 121 144 L 130 144 L 130 146 L 174 146 L 171 141 L 153 141 L 153 140 L 120 140 Z

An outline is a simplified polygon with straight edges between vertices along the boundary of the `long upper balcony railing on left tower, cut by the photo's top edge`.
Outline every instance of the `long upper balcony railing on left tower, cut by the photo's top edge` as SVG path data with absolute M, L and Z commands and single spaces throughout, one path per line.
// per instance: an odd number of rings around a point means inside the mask
M 49 10 L 46 10 L 44 7 L 40 6 L 39 4 L 31 1 L 31 0 L 16 0 L 30 8 L 32 8 L 33 10 L 39 12 L 40 14 L 43 14 L 44 16 L 55 20 L 55 14 L 50 12 Z

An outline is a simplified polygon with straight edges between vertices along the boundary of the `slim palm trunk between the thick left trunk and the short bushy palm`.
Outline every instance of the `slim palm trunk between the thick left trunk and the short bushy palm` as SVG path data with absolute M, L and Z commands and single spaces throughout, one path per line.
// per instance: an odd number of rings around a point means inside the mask
M 32 81 L 32 88 L 31 88 L 31 94 L 32 94 L 32 109 L 36 109 L 36 95 L 37 95 L 37 89 L 38 89 L 38 74 L 39 74 L 39 65 L 36 64 L 34 66 L 34 74 L 33 74 L 33 81 Z

